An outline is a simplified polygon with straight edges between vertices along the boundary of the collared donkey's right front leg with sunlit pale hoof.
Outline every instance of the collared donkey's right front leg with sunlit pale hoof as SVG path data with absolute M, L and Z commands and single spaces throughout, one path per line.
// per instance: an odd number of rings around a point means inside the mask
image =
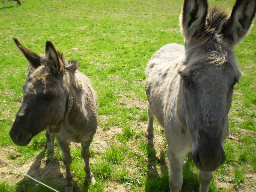
M 87 180 L 88 183 L 91 183 L 94 185 L 96 180 L 93 177 L 93 174 L 91 172 L 91 167 L 90 167 L 90 144 L 92 140 L 90 141 L 84 141 L 81 143 L 82 149 L 81 149 L 81 154 L 82 157 L 84 158 L 84 171 L 85 171 L 85 179 Z

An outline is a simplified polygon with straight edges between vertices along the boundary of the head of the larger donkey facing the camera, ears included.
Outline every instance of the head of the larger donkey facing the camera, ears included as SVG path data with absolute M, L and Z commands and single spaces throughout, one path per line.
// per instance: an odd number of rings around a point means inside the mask
M 219 8 L 208 10 L 207 0 L 184 1 L 180 23 L 185 59 L 179 68 L 183 99 L 178 113 L 201 171 L 214 171 L 225 161 L 228 112 L 241 76 L 233 48 L 249 30 L 255 10 L 255 0 L 237 0 L 231 15 Z

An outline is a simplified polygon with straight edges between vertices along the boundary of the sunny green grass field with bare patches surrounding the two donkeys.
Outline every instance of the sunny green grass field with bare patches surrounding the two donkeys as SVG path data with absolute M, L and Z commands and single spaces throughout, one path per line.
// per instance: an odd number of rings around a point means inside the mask
M 229 10 L 234 0 L 212 1 Z M 74 191 L 168 191 L 169 168 L 163 129 L 155 122 L 148 145 L 144 74 L 150 57 L 168 43 L 183 44 L 179 28 L 182 0 L 28 1 L 0 8 L 0 157 L 47 183 L 65 189 L 62 154 L 45 149 L 44 132 L 25 147 L 9 137 L 20 107 L 27 60 L 12 41 L 41 54 L 46 40 L 67 60 L 78 60 L 98 96 L 99 127 L 91 150 L 97 180 L 88 185 L 78 144 L 72 143 Z M 256 190 L 256 21 L 235 53 L 244 75 L 235 86 L 230 109 L 226 162 L 214 172 L 211 192 Z M 0 160 L 0 191 L 51 191 Z M 183 192 L 198 191 L 198 171 L 187 157 Z

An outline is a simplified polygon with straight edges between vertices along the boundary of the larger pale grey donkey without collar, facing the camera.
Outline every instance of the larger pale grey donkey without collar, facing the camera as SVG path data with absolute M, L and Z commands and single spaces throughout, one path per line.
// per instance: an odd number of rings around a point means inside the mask
M 233 87 L 241 72 L 234 46 L 248 32 L 255 0 L 236 0 L 231 15 L 207 0 L 185 0 L 180 25 L 185 46 L 166 44 L 146 68 L 148 139 L 153 121 L 164 127 L 170 163 L 169 187 L 182 187 L 182 167 L 188 152 L 199 169 L 200 192 L 208 191 L 213 171 L 225 161 L 228 112 Z

